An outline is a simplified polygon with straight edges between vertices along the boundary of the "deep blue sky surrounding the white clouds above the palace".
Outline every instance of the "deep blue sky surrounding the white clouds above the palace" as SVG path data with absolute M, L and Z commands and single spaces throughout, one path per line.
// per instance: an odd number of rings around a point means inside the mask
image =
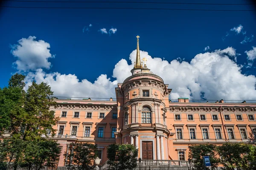
M 189 1 L 182 1 L 189 2 Z M 197 1 L 205 3 L 206 1 Z M 251 3 L 252 1 L 207 1 L 207 3 Z M 207 5 L 155 5 L 155 4 L 45 4 L 45 3 L 15 3 L 6 2 L 2 6 L 91 6 L 91 7 L 143 7 L 143 8 L 205 8 L 205 9 L 255 9 L 253 6 L 207 6 Z M 89 26 L 89 25 L 92 26 Z M 18 57 L 14 57 L 11 45 L 17 45 L 18 40 L 35 36 L 33 41 L 43 40 L 49 43 L 50 55 L 48 58 L 50 68 L 42 68 L 44 73 L 61 75 L 75 75 L 78 82 L 87 80 L 93 83 L 101 74 L 107 75 L 111 85 L 123 78 L 112 77 L 115 65 L 121 59 L 125 59 L 131 65 L 131 52 L 136 49 L 136 36 L 140 38 L 140 50 L 147 51 L 152 58 L 159 57 L 169 63 L 178 57 L 190 63 L 197 54 L 214 53 L 215 50 L 224 50 L 232 47 L 236 55 L 226 55 L 230 61 L 241 67 L 240 74 L 245 77 L 253 75 L 255 78 L 255 60 L 250 60 L 248 66 L 245 51 L 253 50 L 256 46 L 256 12 L 255 11 L 172 11 L 172 10 L 137 10 L 137 9 L 38 9 L 38 8 L 1 8 L 0 11 L 0 87 L 8 85 L 8 80 L 17 71 L 17 65 L 13 64 Z M 231 31 L 232 28 L 242 26 L 241 31 Z M 85 28 L 84 28 L 85 27 Z M 84 32 L 83 32 L 84 28 Z M 88 28 L 88 30 L 86 30 Z M 108 34 L 102 34 L 100 29 L 105 28 Z M 111 28 L 116 32 L 109 34 Z M 245 34 L 246 32 L 246 34 Z M 226 36 L 228 34 L 228 36 Z M 249 41 L 241 44 L 245 39 Z M 204 48 L 209 46 L 207 51 Z M 47 48 L 46 48 L 47 50 Z M 251 51 L 253 55 L 253 51 Z M 219 54 L 219 53 L 218 53 Z M 222 53 L 224 55 L 224 53 Z M 240 55 L 241 54 L 241 55 Z M 145 54 L 146 55 L 146 54 Z M 206 55 L 206 54 L 205 54 Z M 223 57 L 223 55 L 221 55 Z M 132 57 L 131 57 L 132 58 Z M 235 61 L 235 58 L 237 61 Z M 31 60 L 31 62 L 33 62 Z M 180 61 L 181 62 L 181 61 Z M 149 62 L 150 64 L 150 62 Z M 153 63 L 152 63 L 153 64 Z M 160 63 L 160 65 L 162 65 Z M 242 66 L 241 66 L 242 65 Z M 128 66 L 127 66 L 128 67 Z M 131 66 L 129 66 L 131 67 Z M 152 68 L 154 68 L 152 66 Z M 127 70 L 127 69 L 126 69 Z M 153 71 L 153 70 L 152 70 Z M 34 69 L 20 71 L 25 75 L 38 72 Z M 127 72 L 127 71 L 126 71 Z M 120 72 L 122 74 L 122 72 Z M 130 73 L 128 73 L 130 74 Z M 125 73 L 124 75 L 128 75 Z M 168 72 L 162 74 L 166 82 L 172 88 Z M 177 73 L 179 74 L 179 73 Z M 212 74 L 211 74 L 212 75 Z M 186 75 L 189 76 L 189 75 Z M 228 75 L 227 75 L 228 76 Z M 54 76 L 53 76 L 54 77 Z M 185 77 L 186 78 L 186 77 Z M 251 80 L 250 90 L 253 89 L 254 78 Z M 35 76 L 28 77 L 28 85 Z M 173 80 L 173 79 L 172 79 Z M 39 80 L 46 81 L 47 80 Z M 182 84 L 183 80 L 180 80 Z M 49 82 L 49 81 L 48 81 Z M 195 82 L 199 82 L 196 78 Z M 193 86 L 186 85 L 189 93 L 179 92 L 180 84 L 174 85 L 178 95 L 173 97 L 198 96 L 201 92 L 193 94 Z M 49 82 L 49 84 L 51 84 Z M 102 85 L 102 83 L 99 83 Z M 104 83 L 103 83 L 104 84 Z M 204 83 L 201 83 L 204 84 Z M 232 82 L 231 82 L 232 84 Z M 247 82 L 244 81 L 247 85 Z M 221 85 L 221 83 L 220 83 Z M 54 85 L 53 85 L 54 86 Z M 104 86 L 104 85 L 103 85 Z M 234 82 L 236 86 L 236 82 Z M 86 86 L 82 86 L 86 88 Z M 70 88 L 82 88 L 70 87 Z M 241 85 L 241 88 L 244 87 Z M 206 87 L 211 88 L 211 87 Z M 222 88 L 221 86 L 218 88 Z M 65 93 L 68 88 L 58 92 L 58 95 L 69 96 L 96 96 L 115 97 L 113 87 L 99 88 L 101 90 L 113 91 L 104 95 L 98 95 L 99 91 L 85 91 L 79 94 Z M 55 88 L 53 89 L 55 90 Z M 212 91 L 211 93 L 213 93 Z M 254 92 L 254 91 L 253 91 Z M 208 96 L 211 96 L 211 93 Z M 222 92 L 222 96 L 230 99 L 237 98 L 231 92 Z M 204 98 L 204 96 L 201 96 Z M 221 97 L 221 94 L 214 98 Z M 210 98 L 210 97 L 208 97 Z M 243 97 L 246 99 L 246 96 Z M 255 99 L 253 96 L 248 99 Z

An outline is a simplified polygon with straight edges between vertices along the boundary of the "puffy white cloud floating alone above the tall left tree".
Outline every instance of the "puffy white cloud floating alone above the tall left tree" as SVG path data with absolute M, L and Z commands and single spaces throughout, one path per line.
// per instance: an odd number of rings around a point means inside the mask
M 18 40 L 18 44 L 12 45 L 11 53 L 17 57 L 14 65 L 19 71 L 35 71 L 38 68 L 49 69 L 51 63 L 49 58 L 54 58 L 50 53 L 50 44 L 44 40 L 35 40 L 36 37 L 29 36 Z

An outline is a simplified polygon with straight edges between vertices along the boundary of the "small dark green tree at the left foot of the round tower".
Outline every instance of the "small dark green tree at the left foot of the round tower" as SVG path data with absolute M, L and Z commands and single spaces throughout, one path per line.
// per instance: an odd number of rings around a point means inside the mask
M 131 144 L 110 144 L 107 148 L 108 164 L 112 170 L 135 170 L 138 149 Z

